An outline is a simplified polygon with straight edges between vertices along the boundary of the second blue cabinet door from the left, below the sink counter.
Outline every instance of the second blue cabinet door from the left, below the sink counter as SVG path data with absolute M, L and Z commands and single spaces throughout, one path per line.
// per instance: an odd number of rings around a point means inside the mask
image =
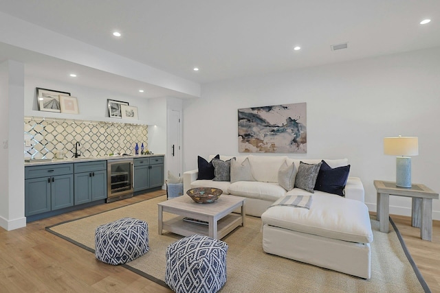
M 74 175 L 51 177 L 52 211 L 74 205 Z

